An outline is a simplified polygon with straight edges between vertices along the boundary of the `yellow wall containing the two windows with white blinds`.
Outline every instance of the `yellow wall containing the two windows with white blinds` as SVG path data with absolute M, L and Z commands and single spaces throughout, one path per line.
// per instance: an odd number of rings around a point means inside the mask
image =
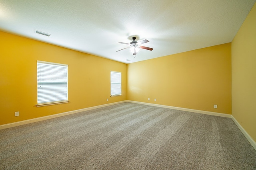
M 4 32 L 0 47 L 0 125 L 126 100 L 126 64 Z M 37 60 L 68 64 L 69 103 L 35 106 Z M 122 72 L 122 96 L 110 97 L 111 70 Z

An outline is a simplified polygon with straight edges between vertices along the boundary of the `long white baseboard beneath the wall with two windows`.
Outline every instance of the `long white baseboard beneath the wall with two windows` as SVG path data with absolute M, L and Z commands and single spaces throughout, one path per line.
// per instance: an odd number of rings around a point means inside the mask
M 34 119 L 28 119 L 28 120 L 24 120 L 24 121 L 17 121 L 17 122 L 14 122 L 14 123 L 8 123 L 8 124 L 0 125 L 0 130 L 10 128 L 10 127 L 16 127 L 16 126 L 20 126 L 20 125 L 25 125 L 25 124 L 28 124 L 28 123 L 34 123 L 34 122 L 38 122 L 38 121 L 42 121 L 42 120 L 52 119 L 52 118 L 55 118 L 55 117 L 71 115 L 71 114 L 79 113 L 79 112 L 82 112 L 82 111 L 97 109 L 97 108 L 100 108 L 100 107 L 106 107 L 106 106 L 111 106 L 111 105 L 114 105 L 114 104 L 120 104 L 120 103 L 124 103 L 124 102 L 126 102 L 126 100 L 121 101 L 121 102 L 114 102 L 114 103 L 110 103 L 110 104 L 99 105 L 99 106 L 87 107 L 87 108 L 84 108 L 84 109 L 67 111 L 67 112 L 64 112 L 64 113 L 58 113 L 58 114 L 54 114 L 54 115 L 37 117 L 37 118 L 34 118 Z

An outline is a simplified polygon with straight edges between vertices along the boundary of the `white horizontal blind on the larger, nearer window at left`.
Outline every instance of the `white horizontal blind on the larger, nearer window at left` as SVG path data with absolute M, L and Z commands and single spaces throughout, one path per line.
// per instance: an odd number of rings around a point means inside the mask
M 68 65 L 37 61 L 37 103 L 68 100 Z

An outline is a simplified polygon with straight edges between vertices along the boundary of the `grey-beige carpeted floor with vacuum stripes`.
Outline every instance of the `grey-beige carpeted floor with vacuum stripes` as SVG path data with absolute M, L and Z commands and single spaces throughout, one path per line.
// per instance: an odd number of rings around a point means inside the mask
M 4 170 L 255 170 L 232 119 L 122 103 L 0 130 Z

